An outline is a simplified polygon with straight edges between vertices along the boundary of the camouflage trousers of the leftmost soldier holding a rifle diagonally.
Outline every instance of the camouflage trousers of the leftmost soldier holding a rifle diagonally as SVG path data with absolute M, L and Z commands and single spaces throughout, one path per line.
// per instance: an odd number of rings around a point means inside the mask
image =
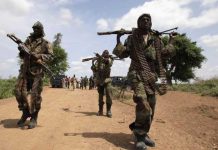
M 18 102 L 19 110 L 28 109 L 30 114 L 39 111 L 42 102 L 42 88 L 42 75 L 24 78 L 22 74 L 20 74 L 15 85 L 15 97 Z

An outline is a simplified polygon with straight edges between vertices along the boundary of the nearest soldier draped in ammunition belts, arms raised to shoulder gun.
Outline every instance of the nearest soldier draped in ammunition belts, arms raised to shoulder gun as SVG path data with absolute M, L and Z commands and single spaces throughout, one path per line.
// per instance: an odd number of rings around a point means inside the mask
M 148 136 L 156 104 L 155 82 L 158 77 L 164 79 L 162 60 L 170 56 L 174 47 L 172 36 L 169 44 L 164 47 L 159 35 L 151 30 L 150 14 L 142 14 L 137 25 L 138 28 L 133 29 L 124 45 L 120 42 L 122 34 L 117 35 L 117 45 L 113 53 L 119 58 L 131 59 L 128 80 L 134 91 L 136 119 L 129 127 L 136 137 L 136 148 L 141 150 L 147 146 L 155 146 L 154 141 Z M 158 91 L 161 94 L 166 93 L 166 84 L 162 84 Z

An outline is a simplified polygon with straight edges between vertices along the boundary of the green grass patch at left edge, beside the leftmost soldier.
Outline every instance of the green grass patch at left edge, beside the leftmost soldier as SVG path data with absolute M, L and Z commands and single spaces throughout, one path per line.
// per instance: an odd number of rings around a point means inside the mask
M 16 78 L 0 79 L 0 99 L 12 97 L 14 95 Z

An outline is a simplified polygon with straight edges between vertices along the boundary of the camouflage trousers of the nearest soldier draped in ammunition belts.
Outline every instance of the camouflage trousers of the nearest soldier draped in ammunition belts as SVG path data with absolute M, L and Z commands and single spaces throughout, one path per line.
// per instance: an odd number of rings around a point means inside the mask
M 136 103 L 136 119 L 130 125 L 130 129 L 140 135 L 147 134 L 154 117 L 156 97 L 155 94 L 149 95 L 145 92 L 143 82 L 139 76 L 131 76 L 129 79 L 134 91 L 133 101 Z

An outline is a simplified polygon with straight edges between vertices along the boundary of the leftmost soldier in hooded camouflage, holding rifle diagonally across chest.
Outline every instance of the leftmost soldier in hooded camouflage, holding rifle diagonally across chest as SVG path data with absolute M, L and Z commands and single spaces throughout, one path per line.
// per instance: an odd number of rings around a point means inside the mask
M 17 125 L 23 127 L 26 119 L 30 117 L 29 129 L 36 127 L 41 109 L 44 71 L 40 64 L 50 60 L 53 54 L 51 44 L 43 38 L 45 36 L 43 25 L 37 21 L 32 28 L 33 33 L 26 39 L 25 45 L 29 48 L 31 55 L 37 59 L 26 56 L 25 53 L 19 53 L 22 63 L 15 86 L 18 108 L 23 112 Z

